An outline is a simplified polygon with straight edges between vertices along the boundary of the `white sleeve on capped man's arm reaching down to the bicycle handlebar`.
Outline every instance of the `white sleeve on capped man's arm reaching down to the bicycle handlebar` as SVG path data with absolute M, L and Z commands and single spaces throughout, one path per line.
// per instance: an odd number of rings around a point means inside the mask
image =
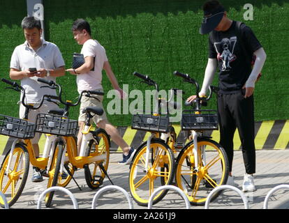
M 208 59 L 207 67 L 205 70 L 205 77 L 204 81 L 202 82 L 202 89 L 199 95 L 206 95 L 207 90 L 209 89 L 209 85 L 212 84 L 214 75 L 217 68 L 217 61 L 216 59 Z

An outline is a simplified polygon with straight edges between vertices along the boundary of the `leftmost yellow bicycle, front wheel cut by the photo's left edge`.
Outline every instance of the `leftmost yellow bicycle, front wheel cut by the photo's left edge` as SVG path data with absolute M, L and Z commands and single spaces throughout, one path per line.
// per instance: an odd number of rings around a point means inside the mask
M 0 115 L 0 134 L 15 138 L 10 151 L 8 151 L 1 164 L 0 169 L 0 190 L 6 196 L 8 205 L 13 206 L 13 204 L 22 194 L 24 185 L 27 181 L 29 162 L 32 166 L 38 167 L 43 175 L 48 176 L 49 180 L 47 183 L 47 188 L 55 185 L 55 183 L 52 183 L 52 179 L 54 178 L 54 170 L 56 166 L 55 157 L 57 157 L 57 153 L 59 151 L 58 147 L 56 146 L 56 141 L 64 139 L 58 137 L 59 134 L 47 134 L 43 155 L 36 158 L 31 144 L 31 139 L 34 138 L 36 125 L 27 121 L 28 114 L 31 109 L 39 109 L 43 105 L 44 100 L 57 100 L 58 97 L 55 95 L 43 95 L 39 104 L 28 105 L 25 102 L 25 91 L 22 86 L 16 82 L 10 82 L 7 79 L 1 80 L 12 86 L 9 89 L 22 92 L 22 105 L 24 105 L 26 109 L 24 119 Z M 38 132 L 41 131 L 38 130 Z M 75 137 L 68 138 L 69 141 L 71 141 L 71 150 L 74 151 L 74 153 L 77 153 Z M 61 178 L 61 180 L 58 182 L 62 187 L 68 185 L 74 172 L 73 167 L 71 164 L 69 164 L 67 159 L 65 160 L 64 164 L 68 170 L 66 173 L 70 172 L 71 174 L 66 174 L 66 177 Z M 45 203 L 49 204 L 49 194 L 47 194 L 47 197 L 45 197 Z M 2 199 L 0 199 L 0 204 L 1 206 L 4 205 Z

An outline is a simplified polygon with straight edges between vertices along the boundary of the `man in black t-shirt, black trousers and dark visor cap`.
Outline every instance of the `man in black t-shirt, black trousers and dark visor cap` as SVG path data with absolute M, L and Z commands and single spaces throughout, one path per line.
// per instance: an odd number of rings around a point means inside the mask
M 220 71 L 217 95 L 218 119 L 220 144 L 225 149 L 229 161 L 227 184 L 236 185 L 232 176 L 232 160 L 233 137 L 237 128 L 246 169 L 242 190 L 252 192 L 256 190 L 253 181 L 255 174 L 253 91 L 265 63 L 266 54 L 253 31 L 243 23 L 237 26 L 237 22 L 228 18 L 225 8 L 218 1 L 207 1 L 203 10 L 200 33 L 209 33 L 209 58 L 199 95 L 206 94 L 218 67 Z M 252 68 L 253 56 L 255 63 Z M 188 98 L 188 102 L 194 99 L 195 95 L 192 95 Z

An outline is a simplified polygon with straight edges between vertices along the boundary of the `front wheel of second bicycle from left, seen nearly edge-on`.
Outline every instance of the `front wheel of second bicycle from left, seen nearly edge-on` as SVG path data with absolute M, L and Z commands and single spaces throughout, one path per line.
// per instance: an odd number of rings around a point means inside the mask
M 61 140 L 58 140 L 55 144 L 54 154 L 52 157 L 52 163 L 48 171 L 48 183 L 47 188 L 54 187 L 61 181 L 61 174 L 59 173 L 61 167 L 62 155 L 64 152 L 64 144 Z M 49 192 L 45 196 L 45 206 L 48 208 L 51 205 L 54 192 Z

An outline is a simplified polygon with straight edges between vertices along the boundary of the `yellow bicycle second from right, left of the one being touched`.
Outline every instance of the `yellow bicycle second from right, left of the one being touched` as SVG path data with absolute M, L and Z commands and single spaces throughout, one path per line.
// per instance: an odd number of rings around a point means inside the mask
M 143 79 L 145 84 L 154 86 L 155 110 L 152 114 L 133 115 L 132 127 L 136 130 L 151 132 L 149 139 L 139 146 L 129 171 L 129 187 L 133 199 L 140 206 L 147 206 L 149 197 L 157 187 L 170 185 L 174 178 L 175 154 L 177 153 L 176 133 L 169 120 L 169 107 L 177 108 L 177 102 L 172 98 L 177 95 L 177 89 L 171 89 L 170 98 L 165 100 L 158 98 L 158 84 L 148 76 L 134 72 L 133 75 Z M 161 109 L 165 107 L 165 114 Z M 162 190 L 153 203 L 161 201 L 168 190 Z

